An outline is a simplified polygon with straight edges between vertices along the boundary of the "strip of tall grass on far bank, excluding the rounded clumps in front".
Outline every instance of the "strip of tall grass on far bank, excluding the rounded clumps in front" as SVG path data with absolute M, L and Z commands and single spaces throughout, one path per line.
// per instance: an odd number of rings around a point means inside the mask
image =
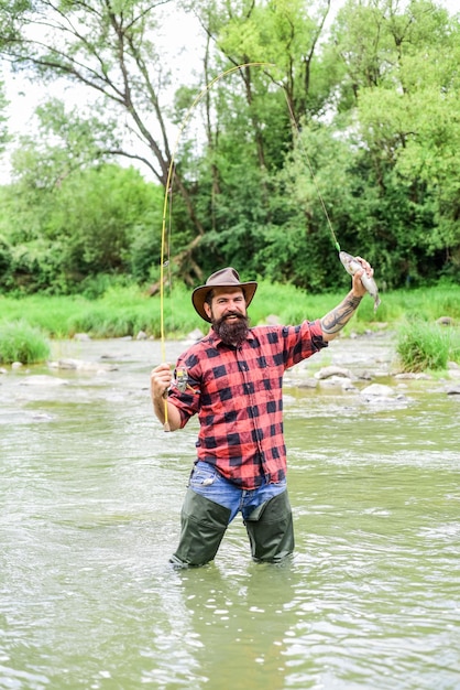
M 196 314 L 190 302 L 190 290 L 174 285 L 164 295 L 164 326 L 166 337 L 183 337 L 195 328 L 207 332 L 208 325 Z M 300 323 L 304 319 L 324 316 L 344 294 L 310 294 L 288 284 L 260 281 L 249 309 L 251 323 L 264 323 L 273 314 L 281 323 Z M 346 335 L 381 327 L 398 327 L 407 319 L 417 317 L 427 323 L 440 316 L 460 321 L 460 285 L 384 292 L 382 304 L 374 312 L 369 295 L 347 325 Z M 91 337 L 135 336 L 144 331 L 149 336 L 161 334 L 161 302 L 150 298 L 135 285 L 113 287 L 97 299 L 84 297 L 31 295 L 21 299 L 0 297 L 0 319 L 3 322 L 25 320 L 50 337 L 73 337 L 78 332 Z

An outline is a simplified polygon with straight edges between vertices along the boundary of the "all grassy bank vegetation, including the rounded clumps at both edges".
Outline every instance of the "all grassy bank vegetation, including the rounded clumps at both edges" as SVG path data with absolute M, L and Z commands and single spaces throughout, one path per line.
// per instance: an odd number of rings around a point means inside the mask
M 460 363 L 460 285 L 439 285 L 382 293 L 374 313 L 365 295 L 343 337 L 391 331 L 403 371 L 445 370 Z M 343 293 L 309 294 L 293 285 L 260 281 L 249 314 L 259 323 L 294 324 L 322 316 Z M 97 299 L 46 294 L 0 295 L 0 365 L 40 364 L 50 355 L 50 341 L 86 334 L 91 338 L 161 337 L 160 297 L 147 297 L 138 285 L 109 288 Z M 206 333 L 195 313 L 190 291 L 167 289 L 163 299 L 164 335 L 179 339 Z

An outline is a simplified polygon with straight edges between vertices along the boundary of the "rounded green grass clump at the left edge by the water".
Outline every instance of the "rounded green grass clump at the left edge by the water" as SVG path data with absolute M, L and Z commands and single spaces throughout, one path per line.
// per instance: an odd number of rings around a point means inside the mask
M 18 321 L 0 324 L 0 363 L 37 364 L 50 356 L 50 345 L 39 328 Z

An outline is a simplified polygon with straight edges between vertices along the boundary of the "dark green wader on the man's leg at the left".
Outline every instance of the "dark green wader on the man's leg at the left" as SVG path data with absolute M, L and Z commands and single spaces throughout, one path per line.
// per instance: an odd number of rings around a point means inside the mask
M 187 568 L 211 561 L 222 541 L 229 518 L 229 508 L 188 488 L 180 514 L 179 546 L 169 562 Z

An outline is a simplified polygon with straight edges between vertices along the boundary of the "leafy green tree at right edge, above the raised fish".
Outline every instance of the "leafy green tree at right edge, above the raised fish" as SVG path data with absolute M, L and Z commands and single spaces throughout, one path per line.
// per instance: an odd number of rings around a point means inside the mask
M 350 0 L 333 40 L 346 65 L 347 136 L 360 150 L 360 204 L 374 226 L 372 238 L 370 223 L 357 223 L 358 235 L 386 257 L 390 283 L 451 270 L 460 246 L 458 20 L 426 0 L 403 9 Z

